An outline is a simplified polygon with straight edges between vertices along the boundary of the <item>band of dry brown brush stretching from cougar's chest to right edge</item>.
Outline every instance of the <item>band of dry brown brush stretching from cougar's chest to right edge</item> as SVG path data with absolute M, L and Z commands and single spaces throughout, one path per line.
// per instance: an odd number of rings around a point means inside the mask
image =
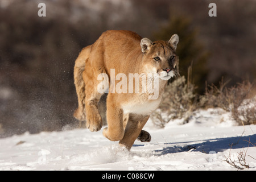
M 188 72 L 191 72 L 191 68 Z M 177 118 L 183 118 L 187 123 L 193 111 L 210 107 L 220 107 L 230 112 L 238 125 L 256 124 L 256 96 L 254 86 L 249 81 L 227 88 L 228 82 L 222 79 L 219 86 L 208 85 L 205 94 L 197 97 L 196 86 L 191 80 L 190 76 L 187 81 L 182 76 L 166 86 L 159 108 L 151 115 L 156 126 L 164 127 Z

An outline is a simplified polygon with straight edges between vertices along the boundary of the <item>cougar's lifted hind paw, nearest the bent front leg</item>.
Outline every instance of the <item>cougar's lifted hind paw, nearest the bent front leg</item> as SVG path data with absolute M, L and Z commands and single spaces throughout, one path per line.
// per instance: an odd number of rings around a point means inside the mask
M 99 131 L 103 125 L 100 114 L 88 114 L 86 115 L 86 127 L 90 131 Z

